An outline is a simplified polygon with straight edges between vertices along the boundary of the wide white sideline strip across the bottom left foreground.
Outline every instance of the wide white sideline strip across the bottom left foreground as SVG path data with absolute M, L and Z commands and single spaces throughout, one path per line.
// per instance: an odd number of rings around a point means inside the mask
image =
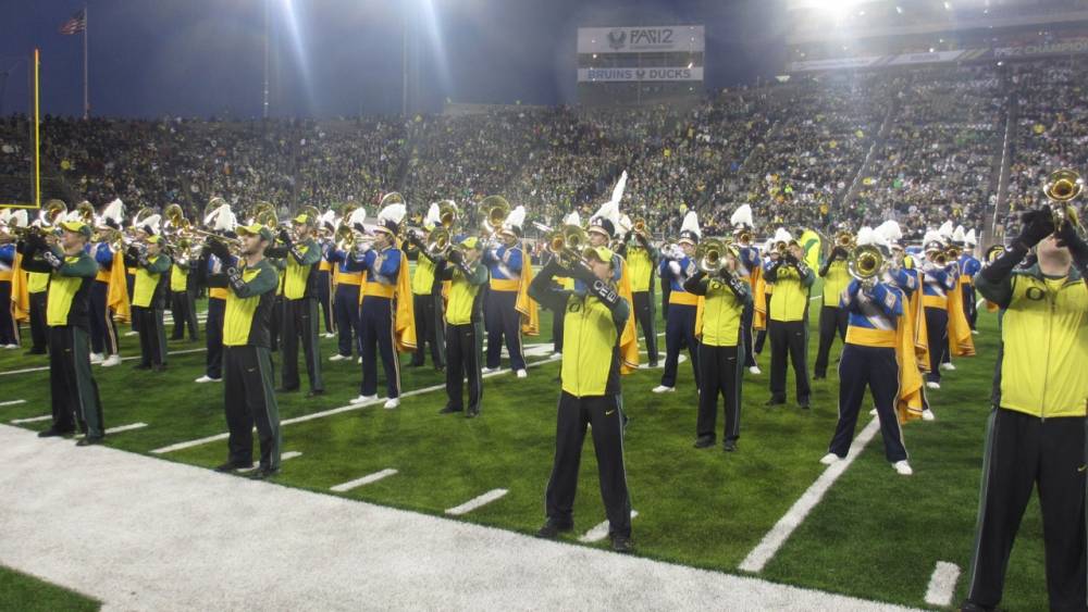
M 0 564 L 103 611 L 604 610 L 617 598 L 627 610 L 904 610 L 16 427 L 0 426 Z

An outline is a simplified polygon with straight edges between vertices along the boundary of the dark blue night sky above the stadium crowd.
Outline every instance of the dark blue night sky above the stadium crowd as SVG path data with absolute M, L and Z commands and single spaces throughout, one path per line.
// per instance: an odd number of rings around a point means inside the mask
M 263 0 L 89 0 L 91 113 L 261 112 Z M 433 7 L 429 10 L 426 7 Z M 78 1 L 0 3 L 3 111 L 26 107 L 41 49 L 42 112 L 82 114 L 83 35 L 58 27 Z M 270 0 L 273 115 L 398 112 L 401 27 L 419 32 L 419 108 L 574 101 L 578 26 L 705 24 L 706 84 L 771 76 L 786 22 L 777 0 Z M 294 15 L 294 17 L 289 16 Z

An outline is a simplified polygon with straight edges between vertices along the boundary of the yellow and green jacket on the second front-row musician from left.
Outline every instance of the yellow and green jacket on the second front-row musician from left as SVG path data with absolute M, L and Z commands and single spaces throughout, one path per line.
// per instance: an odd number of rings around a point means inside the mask
M 209 287 L 225 287 L 226 313 L 223 315 L 223 346 L 270 348 L 269 322 L 280 277 L 275 267 L 261 260 L 251 267 L 238 262 L 223 274 L 208 277 Z

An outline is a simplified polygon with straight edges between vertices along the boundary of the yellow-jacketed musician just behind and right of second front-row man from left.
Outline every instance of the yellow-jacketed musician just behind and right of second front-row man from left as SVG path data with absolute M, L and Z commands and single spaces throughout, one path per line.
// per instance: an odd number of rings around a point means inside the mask
M 300 385 L 298 342 L 301 338 L 306 376 L 310 382 L 310 392 L 307 397 L 310 398 L 325 392 L 325 384 L 321 378 L 321 347 L 318 345 L 321 314 L 318 304 L 317 264 L 322 255 L 321 248 L 312 236 L 317 222 L 314 217 L 312 208 L 296 215 L 290 220 L 294 235 L 285 228 L 281 229 L 276 245 L 264 250 L 265 257 L 284 261 L 283 313 L 280 328 L 283 339 L 281 353 L 283 369 L 280 375 L 281 388 L 277 390 L 282 392 L 298 390 Z

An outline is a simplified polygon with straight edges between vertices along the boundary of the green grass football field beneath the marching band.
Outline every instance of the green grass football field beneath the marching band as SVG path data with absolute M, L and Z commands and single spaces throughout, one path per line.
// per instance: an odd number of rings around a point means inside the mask
M 813 303 L 809 367 L 817 346 L 818 302 Z M 435 515 L 446 515 L 446 509 L 493 489 L 507 489 L 500 499 L 457 520 L 533 533 L 544 520 L 558 398 L 558 362 L 547 361 L 544 347 L 531 347 L 549 339 L 551 313 L 542 311 L 541 320 L 541 336 L 527 339 L 527 351 L 540 354 L 529 358 L 536 363 L 529 378 L 517 379 L 509 371 L 487 377 L 482 417 L 475 420 L 437 413 L 445 403 L 443 375 L 430 365 L 403 370 L 403 388 L 418 392 L 406 396 L 399 409 L 383 410 L 381 403 L 351 407 L 350 400 L 359 392 L 360 367 L 355 361 L 327 362 L 335 340 L 322 339 L 329 392 L 306 399 L 304 376 L 302 392 L 279 397 L 283 420 L 313 417 L 285 424 L 284 451 L 301 454 L 284 461 L 269 486 L 298 487 Z M 953 603 L 962 599 L 997 353 L 996 316 L 980 313 L 979 329 L 981 334 L 975 336 L 978 357 L 957 359 L 957 370 L 945 373 L 943 388 L 929 395 L 937 421 L 905 426 L 914 475 L 894 473 L 877 435 L 766 566 L 752 575 L 924 608 L 927 585 L 941 561 L 960 567 Z M 664 353 L 664 341 L 660 345 Z M 124 357 L 137 354 L 135 337 L 123 338 L 122 346 Z M 161 452 L 225 432 L 222 387 L 193 383 L 203 373 L 202 347 L 202 341 L 172 341 L 175 354 L 164 373 L 134 372 L 133 361 L 94 369 L 107 427 L 146 424 L 108 436 L 109 446 L 209 469 L 225 459 L 223 439 Z M 840 349 L 836 344 L 832 360 Z M 407 355 L 401 362 L 407 363 Z M 0 351 L 0 403 L 25 400 L 0 405 L 0 421 L 48 414 L 49 373 L 41 367 L 46 364 L 46 358 Z M 769 397 L 769 353 L 759 358 L 759 364 L 762 375 L 745 374 L 741 439 L 734 453 L 725 453 L 720 447 L 692 448 L 696 394 L 690 362 L 680 364 L 675 394 L 650 392 L 659 382 L 660 370 L 640 370 L 623 378 L 625 409 L 631 417 L 625 447 L 628 484 L 638 512 L 632 522 L 638 554 L 745 574 L 739 569 L 742 560 L 824 472 L 818 460 L 826 452 L 837 416 L 833 369 L 830 379 L 814 383 L 813 410 L 806 412 L 792 403 L 792 374 L 787 386 L 791 403 L 764 407 Z M 382 383 L 379 388 L 384 389 Z M 858 432 L 871 419 L 867 408 Z M 332 412 L 322 414 L 326 411 Z M 48 421 L 21 424 L 33 430 L 48 425 Z M 382 470 L 397 473 L 344 494 L 330 490 Z M 578 541 L 578 534 L 604 521 L 592 441 L 583 449 L 579 489 L 576 532 L 566 538 L 572 546 L 604 547 L 604 542 Z M 1010 610 L 1047 605 L 1036 501 L 1029 505 L 1013 551 L 1002 605 Z

